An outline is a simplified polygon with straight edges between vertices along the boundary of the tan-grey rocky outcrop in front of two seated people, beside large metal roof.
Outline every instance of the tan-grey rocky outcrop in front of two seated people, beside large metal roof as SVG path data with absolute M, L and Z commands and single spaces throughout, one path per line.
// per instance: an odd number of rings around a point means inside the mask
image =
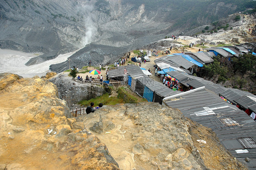
M 206 134 L 209 139 L 204 137 L 206 132 L 202 129 L 198 134 L 192 135 L 192 139 L 191 129 L 193 132 L 197 130 L 195 123 L 191 127 L 190 120 L 185 119 L 179 110 L 158 103 L 106 106 L 89 115 L 81 115 L 76 120 L 107 145 L 122 170 L 222 170 L 225 166 L 245 168 L 230 154 L 226 154 L 209 129 L 204 129 L 209 134 Z M 197 126 L 201 128 L 200 125 Z M 204 152 L 200 148 L 199 153 L 195 147 L 195 139 L 206 140 L 205 145 L 209 149 Z M 217 148 L 222 152 L 217 152 Z M 207 153 L 210 154 L 205 157 Z M 215 157 L 218 155 L 225 155 L 229 161 L 220 165 Z M 205 166 L 201 156 L 208 166 Z

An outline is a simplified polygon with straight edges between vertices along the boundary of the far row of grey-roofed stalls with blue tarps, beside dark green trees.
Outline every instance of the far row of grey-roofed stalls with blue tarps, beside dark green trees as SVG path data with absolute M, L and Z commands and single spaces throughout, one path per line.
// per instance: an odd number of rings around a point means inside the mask
M 159 67 L 158 73 L 166 75 L 164 69 L 174 69 L 188 74 L 193 74 L 199 71 L 203 65 L 213 62 L 213 57 L 219 55 L 221 62 L 229 62 L 232 57 L 239 57 L 239 55 L 248 53 L 247 45 L 211 47 L 203 49 L 205 51 L 174 53 L 172 55 L 165 55 L 159 59 L 154 60 Z M 162 76 L 163 77 L 163 76 Z

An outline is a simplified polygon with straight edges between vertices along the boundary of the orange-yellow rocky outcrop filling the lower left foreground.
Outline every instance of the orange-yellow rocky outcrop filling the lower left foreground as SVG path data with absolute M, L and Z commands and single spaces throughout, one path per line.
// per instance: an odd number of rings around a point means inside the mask
M 119 170 L 106 145 L 71 117 L 55 85 L 8 76 L 14 81 L 0 90 L 1 169 Z

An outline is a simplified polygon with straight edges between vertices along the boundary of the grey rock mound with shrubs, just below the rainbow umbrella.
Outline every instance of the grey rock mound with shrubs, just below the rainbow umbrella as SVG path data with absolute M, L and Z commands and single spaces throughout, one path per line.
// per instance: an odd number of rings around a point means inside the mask
M 60 73 L 50 81 L 57 86 L 59 98 L 65 100 L 69 107 L 81 100 L 90 100 L 106 93 L 100 86 L 81 84 L 78 80 L 72 80 L 67 72 Z

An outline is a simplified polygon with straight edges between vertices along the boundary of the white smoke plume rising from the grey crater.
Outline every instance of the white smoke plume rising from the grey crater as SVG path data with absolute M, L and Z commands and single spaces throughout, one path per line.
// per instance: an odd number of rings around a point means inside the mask
M 94 26 L 93 21 L 92 21 L 92 11 L 93 11 L 93 6 L 92 5 L 82 5 L 82 10 L 87 13 L 86 16 L 84 16 L 84 22 L 85 22 L 85 37 L 82 39 L 82 45 L 85 46 L 89 43 L 92 42 L 96 32 L 97 28 Z

